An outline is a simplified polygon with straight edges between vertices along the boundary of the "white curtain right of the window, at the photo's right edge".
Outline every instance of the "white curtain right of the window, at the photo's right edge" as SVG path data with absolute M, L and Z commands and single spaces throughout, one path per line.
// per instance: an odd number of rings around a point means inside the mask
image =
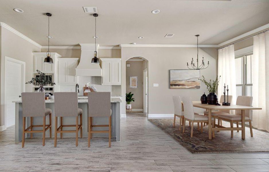
M 269 32 L 256 35 L 253 39 L 252 104 L 262 108 L 253 110 L 253 126 L 269 131 Z

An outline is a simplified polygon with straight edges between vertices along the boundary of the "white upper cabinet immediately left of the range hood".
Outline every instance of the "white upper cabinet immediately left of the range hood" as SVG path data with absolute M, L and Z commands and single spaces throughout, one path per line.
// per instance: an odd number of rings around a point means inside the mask
M 58 59 L 58 84 L 76 85 L 76 68 L 78 58 L 59 58 Z

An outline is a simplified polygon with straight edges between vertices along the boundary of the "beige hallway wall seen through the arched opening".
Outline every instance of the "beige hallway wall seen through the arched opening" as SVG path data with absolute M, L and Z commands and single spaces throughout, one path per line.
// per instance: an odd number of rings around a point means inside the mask
M 126 64 L 130 64 L 130 67 L 126 67 L 126 93 L 132 92 L 135 98 L 135 101 L 131 102 L 132 109 L 143 109 L 143 61 L 126 62 Z M 130 88 L 131 76 L 137 77 L 138 88 Z

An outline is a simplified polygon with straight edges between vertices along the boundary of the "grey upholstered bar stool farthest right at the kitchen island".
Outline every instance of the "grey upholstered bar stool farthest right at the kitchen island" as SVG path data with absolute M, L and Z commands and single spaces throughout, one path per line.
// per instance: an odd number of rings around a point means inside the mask
M 88 93 L 88 147 L 90 147 L 92 133 L 108 133 L 109 147 L 111 146 L 111 113 L 110 92 Z M 108 117 L 108 125 L 92 125 L 93 117 Z M 108 130 L 93 131 L 93 127 L 108 127 Z

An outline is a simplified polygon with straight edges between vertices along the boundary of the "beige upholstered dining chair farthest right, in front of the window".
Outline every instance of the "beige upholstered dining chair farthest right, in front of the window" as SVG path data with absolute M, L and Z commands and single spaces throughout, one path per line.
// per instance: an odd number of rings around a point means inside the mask
M 251 96 L 238 96 L 236 100 L 236 105 L 243 105 L 243 106 L 252 106 L 252 100 L 253 97 Z M 233 123 L 236 122 L 236 126 L 238 128 L 238 123 L 241 122 L 241 110 L 235 110 L 234 115 L 230 114 L 220 114 L 218 115 L 218 118 L 220 120 L 225 120 L 230 122 L 231 128 L 233 128 Z M 252 111 L 251 110 L 245 110 L 245 122 L 249 122 L 249 129 L 250 129 L 250 135 L 253 137 L 252 133 Z M 239 132 L 239 130 L 237 130 Z M 231 131 L 231 137 L 233 137 L 233 130 Z

